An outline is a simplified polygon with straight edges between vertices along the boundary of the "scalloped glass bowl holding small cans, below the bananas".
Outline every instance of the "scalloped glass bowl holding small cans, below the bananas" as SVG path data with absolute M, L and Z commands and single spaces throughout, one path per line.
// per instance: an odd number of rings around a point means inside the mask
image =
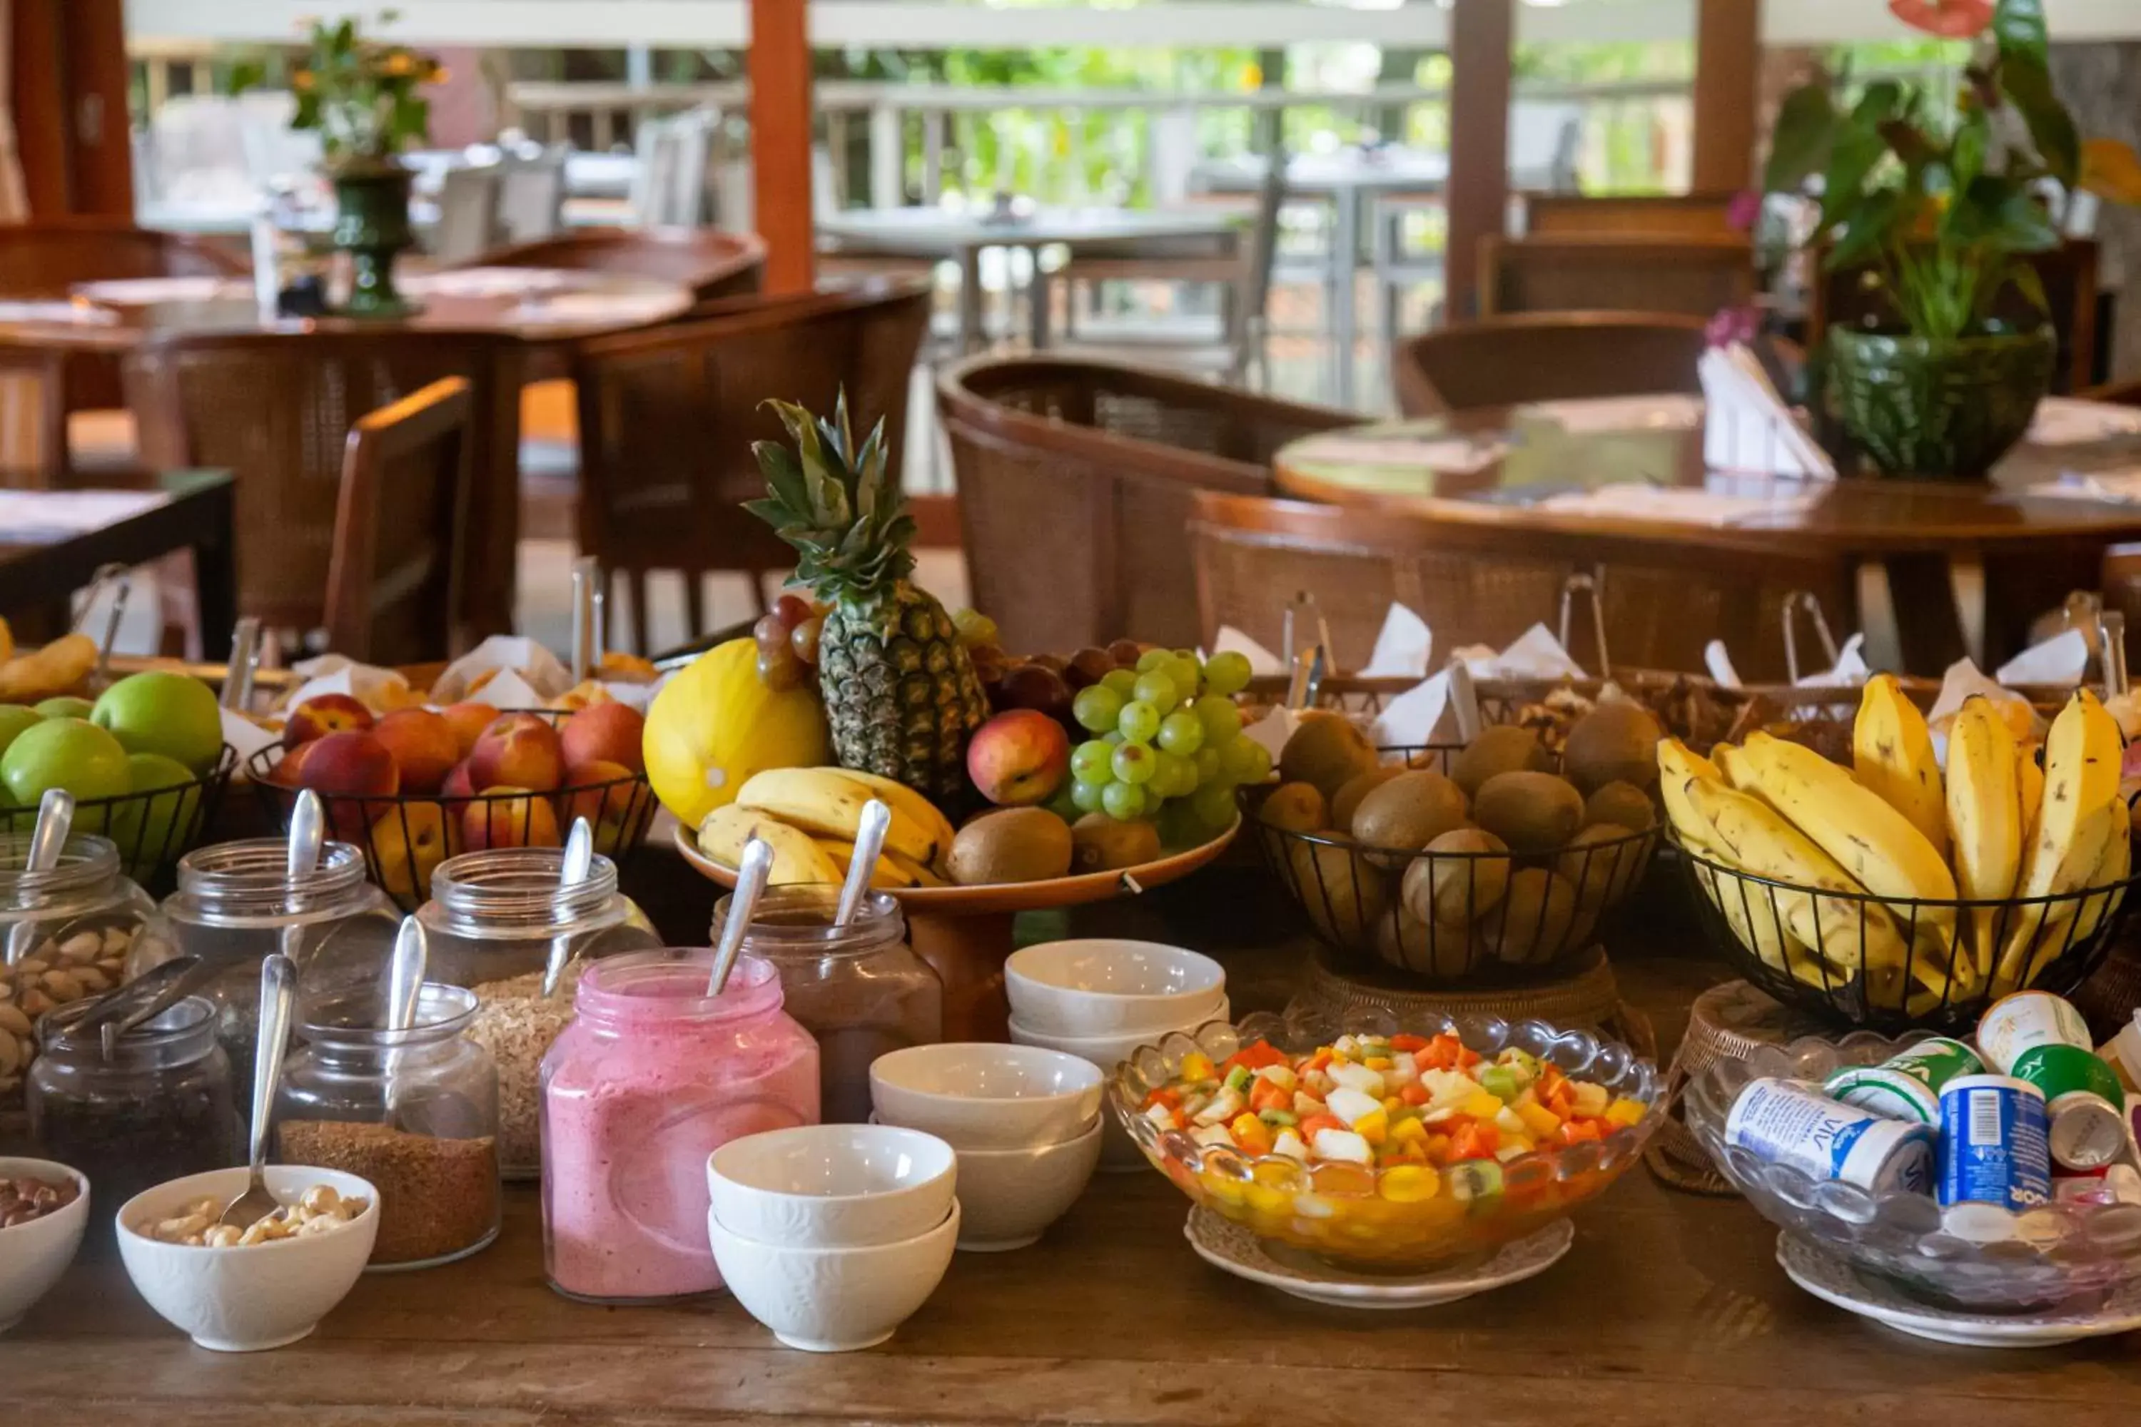
M 1749 1080 L 1781 1076 L 1820 1083 L 1843 1065 L 1876 1065 L 1916 1038 L 1852 1033 L 1807 1038 L 1709 1065 L 1687 1085 L 1687 1127 L 1756 1211 L 1861 1273 L 1927 1303 L 2034 1309 L 2105 1292 L 2141 1275 L 2141 1204 L 2053 1202 L 2002 1215 L 1985 1234 L 1942 1228 L 1929 1194 L 1816 1181 L 1726 1145 L 1726 1117 Z

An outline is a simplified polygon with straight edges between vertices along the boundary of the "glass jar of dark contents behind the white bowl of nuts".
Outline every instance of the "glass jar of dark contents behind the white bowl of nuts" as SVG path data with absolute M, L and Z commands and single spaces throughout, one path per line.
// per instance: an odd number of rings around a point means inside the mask
M 98 1222 L 169 1179 L 244 1160 L 231 1063 L 216 1044 L 216 1006 L 186 997 L 118 1038 L 39 1027 L 30 1068 L 30 1136 L 39 1153 L 90 1177 Z

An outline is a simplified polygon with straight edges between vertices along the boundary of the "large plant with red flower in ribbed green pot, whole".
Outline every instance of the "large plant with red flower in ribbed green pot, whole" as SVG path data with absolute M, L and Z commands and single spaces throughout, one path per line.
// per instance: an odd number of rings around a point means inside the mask
M 1843 430 L 1884 473 L 1974 479 L 2051 383 L 2055 336 L 2030 259 L 2062 242 L 2053 203 L 2081 186 L 2126 197 L 2135 158 L 2081 143 L 2051 88 L 2043 0 L 1888 9 L 1972 41 L 1955 105 L 1895 79 L 1846 103 L 1813 79 L 1777 113 L 1766 188 L 1816 190 L 1824 270 L 1861 272 L 1880 300 L 1878 325 L 1839 323 L 1820 353 Z

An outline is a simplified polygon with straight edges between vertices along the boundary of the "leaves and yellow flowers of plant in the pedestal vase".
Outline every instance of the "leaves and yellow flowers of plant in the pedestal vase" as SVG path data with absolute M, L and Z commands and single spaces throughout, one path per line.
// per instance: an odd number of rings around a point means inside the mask
M 390 26 L 400 15 L 379 11 Z M 366 39 L 353 15 L 317 19 L 306 36 L 306 53 L 280 68 L 280 81 L 298 96 L 295 128 L 317 128 L 330 169 L 377 169 L 422 143 L 430 133 L 430 101 L 422 86 L 445 79 L 435 56 L 407 45 Z M 268 60 L 231 66 L 229 92 L 242 94 L 270 81 Z

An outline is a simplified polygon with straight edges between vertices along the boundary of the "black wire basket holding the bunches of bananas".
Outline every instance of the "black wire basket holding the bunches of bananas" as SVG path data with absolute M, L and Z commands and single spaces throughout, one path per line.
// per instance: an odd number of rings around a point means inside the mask
M 1965 1029 L 2013 991 L 2072 991 L 2111 952 L 2141 881 L 1908 901 L 1775 881 L 1674 845 L 1706 935 L 1749 982 L 1786 1006 L 1884 1035 Z

